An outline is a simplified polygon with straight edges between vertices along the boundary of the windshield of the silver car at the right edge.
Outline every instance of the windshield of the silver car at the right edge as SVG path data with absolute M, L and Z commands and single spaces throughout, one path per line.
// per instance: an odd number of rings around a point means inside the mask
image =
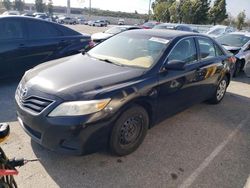
M 236 35 L 236 34 L 223 35 L 217 39 L 217 41 L 224 46 L 235 46 L 235 47 L 242 47 L 249 40 L 250 37 L 244 35 Z

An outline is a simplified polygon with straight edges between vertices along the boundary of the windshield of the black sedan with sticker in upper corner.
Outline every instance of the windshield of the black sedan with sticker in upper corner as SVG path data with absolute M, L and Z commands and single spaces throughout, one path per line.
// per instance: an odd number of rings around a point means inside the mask
M 147 69 L 162 55 L 168 42 L 164 38 L 126 33 L 100 43 L 88 54 L 109 63 Z

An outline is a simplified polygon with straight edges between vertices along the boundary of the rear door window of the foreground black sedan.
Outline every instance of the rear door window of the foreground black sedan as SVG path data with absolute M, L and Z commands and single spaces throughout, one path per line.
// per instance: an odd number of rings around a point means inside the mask
M 210 39 L 199 38 L 198 44 L 201 53 L 201 59 L 216 57 L 214 43 Z

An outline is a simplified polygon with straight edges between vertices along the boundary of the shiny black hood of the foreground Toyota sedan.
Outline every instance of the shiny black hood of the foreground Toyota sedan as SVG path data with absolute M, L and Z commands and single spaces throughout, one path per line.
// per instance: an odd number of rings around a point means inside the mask
M 79 54 L 39 65 L 26 72 L 23 82 L 28 88 L 73 100 L 115 88 L 141 76 L 144 71 Z

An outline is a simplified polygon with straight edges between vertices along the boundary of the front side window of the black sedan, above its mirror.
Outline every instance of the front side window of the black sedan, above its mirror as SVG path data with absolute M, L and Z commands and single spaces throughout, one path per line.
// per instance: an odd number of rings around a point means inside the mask
M 197 61 L 197 51 L 193 38 L 181 40 L 172 50 L 168 61 L 180 60 L 187 64 Z

